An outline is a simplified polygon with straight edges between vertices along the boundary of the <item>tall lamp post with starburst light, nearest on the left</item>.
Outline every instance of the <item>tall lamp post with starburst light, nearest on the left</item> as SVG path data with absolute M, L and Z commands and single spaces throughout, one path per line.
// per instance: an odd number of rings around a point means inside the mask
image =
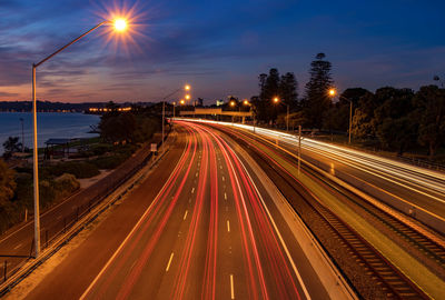
M 52 54 L 48 56 L 47 58 L 42 59 L 38 63 L 32 63 L 32 124 L 33 124 L 33 192 L 34 192 L 34 258 L 38 258 L 40 254 L 40 204 L 39 204 L 39 157 L 38 157 L 38 143 L 37 143 L 37 92 L 36 92 L 36 70 L 39 66 L 43 64 L 49 59 L 53 58 L 75 42 L 79 41 L 87 34 L 91 33 L 103 24 L 112 24 L 116 31 L 125 31 L 127 29 L 127 21 L 125 19 L 116 19 L 113 21 L 106 20 L 103 22 L 98 23 L 77 39 L 70 41 L 62 48 L 58 49 Z

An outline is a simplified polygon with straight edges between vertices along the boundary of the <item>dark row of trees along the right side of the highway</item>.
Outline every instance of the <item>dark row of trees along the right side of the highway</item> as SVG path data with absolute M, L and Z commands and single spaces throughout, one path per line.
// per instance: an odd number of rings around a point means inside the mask
M 270 69 L 269 73 L 259 74 L 259 94 L 250 103 L 259 123 L 286 129 L 289 108 L 290 130 L 303 126 L 305 130 L 345 141 L 352 101 L 355 146 L 445 163 L 445 89 L 439 87 L 438 77 L 432 79 L 437 84 L 421 87 L 418 91 L 383 87 L 372 92 L 350 88 L 329 97 L 329 89 L 335 88 L 332 63 L 318 53 L 310 63 L 309 81 L 301 97 L 294 73 L 280 76 L 277 69 Z M 275 97 L 278 102 L 273 101 Z M 233 109 L 239 108 L 241 102 Z

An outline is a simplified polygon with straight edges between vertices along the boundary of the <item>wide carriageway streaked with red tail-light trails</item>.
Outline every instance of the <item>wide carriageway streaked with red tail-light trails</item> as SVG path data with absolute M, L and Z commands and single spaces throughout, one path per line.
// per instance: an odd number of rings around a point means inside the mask
M 176 127 L 159 167 L 27 299 L 328 299 L 236 144 Z

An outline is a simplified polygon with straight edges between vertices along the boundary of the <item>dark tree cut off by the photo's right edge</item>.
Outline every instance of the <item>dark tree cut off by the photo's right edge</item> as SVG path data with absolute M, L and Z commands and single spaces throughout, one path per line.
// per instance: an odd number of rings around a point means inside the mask
M 422 87 L 414 97 L 413 119 L 418 120 L 418 142 L 428 147 L 433 158 L 445 141 L 445 89 Z

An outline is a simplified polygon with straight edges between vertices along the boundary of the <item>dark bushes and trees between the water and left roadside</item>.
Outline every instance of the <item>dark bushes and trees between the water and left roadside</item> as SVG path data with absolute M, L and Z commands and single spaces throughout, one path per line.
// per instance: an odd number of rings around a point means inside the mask
M 77 151 L 70 153 L 68 159 L 55 157 L 40 161 L 42 209 L 79 190 L 78 179 L 92 178 L 100 174 L 100 170 L 119 167 L 160 128 L 157 108 L 134 107 L 131 111 L 120 112 L 112 102 L 107 107 L 109 112 L 101 117 L 99 138 L 70 143 L 69 147 Z M 24 216 L 33 211 L 32 160 L 20 161 L 13 157 L 22 150 L 19 138 L 10 137 L 4 141 L 3 149 L 3 158 L 0 159 L 0 233 L 23 221 Z M 43 151 L 39 149 L 39 153 Z M 14 163 L 17 161 L 19 163 Z

